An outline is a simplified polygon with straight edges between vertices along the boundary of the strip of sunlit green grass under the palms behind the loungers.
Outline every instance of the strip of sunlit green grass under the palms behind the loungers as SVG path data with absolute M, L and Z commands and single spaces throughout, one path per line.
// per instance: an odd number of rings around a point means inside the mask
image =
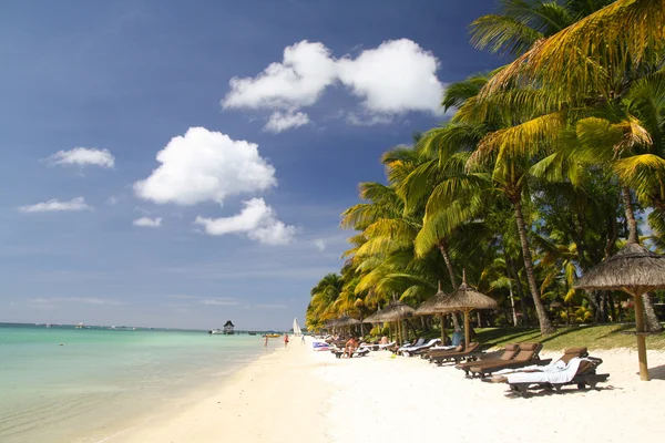
M 477 329 L 473 341 L 480 341 L 491 347 L 503 347 L 507 343 L 539 341 L 549 351 L 560 351 L 564 348 L 587 347 L 594 349 L 628 348 L 637 349 L 633 334 L 622 331 L 634 331 L 634 324 L 601 324 L 561 327 L 549 337 L 543 337 L 540 329 L 528 328 L 483 328 Z M 646 337 L 647 349 L 665 350 L 665 333 Z

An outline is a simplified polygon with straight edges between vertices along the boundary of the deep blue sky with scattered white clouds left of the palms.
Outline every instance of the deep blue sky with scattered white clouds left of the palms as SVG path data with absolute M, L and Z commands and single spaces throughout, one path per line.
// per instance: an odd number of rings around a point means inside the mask
M 303 322 L 358 183 L 500 64 L 495 7 L 4 2 L 0 321 Z

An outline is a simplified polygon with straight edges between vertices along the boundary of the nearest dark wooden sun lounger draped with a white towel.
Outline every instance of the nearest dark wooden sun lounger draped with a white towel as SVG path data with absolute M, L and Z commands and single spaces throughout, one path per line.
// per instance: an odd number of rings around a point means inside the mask
M 596 369 L 603 360 L 593 357 L 574 357 L 570 361 L 557 361 L 540 369 L 518 371 L 493 378 L 494 382 L 505 382 L 511 391 L 525 398 L 529 388 L 536 385 L 544 389 L 554 389 L 561 392 L 565 385 L 577 385 L 577 389 L 596 389 L 597 383 L 604 382 L 610 374 L 598 374 Z

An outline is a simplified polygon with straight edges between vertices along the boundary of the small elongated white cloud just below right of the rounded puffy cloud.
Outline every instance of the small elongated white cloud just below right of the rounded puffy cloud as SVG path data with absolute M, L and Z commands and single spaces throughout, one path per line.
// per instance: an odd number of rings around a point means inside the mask
M 208 235 L 245 234 L 248 238 L 265 245 L 285 245 L 293 240 L 295 226 L 287 226 L 277 219 L 275 210 L 263 198 L 243 202 L 239 214 L 232 217 L 196 217 L 196 225 L 203 226 Z

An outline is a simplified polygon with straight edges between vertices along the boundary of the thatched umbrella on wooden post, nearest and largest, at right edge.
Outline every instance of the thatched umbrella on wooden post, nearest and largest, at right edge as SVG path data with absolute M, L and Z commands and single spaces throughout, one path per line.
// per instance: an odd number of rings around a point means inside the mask
M 623 290 L 635 297 L 635 334 L 640 378 L 649 380 L 646 364 L 644 305 L 642 296 L 665 288 L 665 256 L 654 254 L 636 243 L 628 241 L 618 253 L 589 270 L 575 288 Z

